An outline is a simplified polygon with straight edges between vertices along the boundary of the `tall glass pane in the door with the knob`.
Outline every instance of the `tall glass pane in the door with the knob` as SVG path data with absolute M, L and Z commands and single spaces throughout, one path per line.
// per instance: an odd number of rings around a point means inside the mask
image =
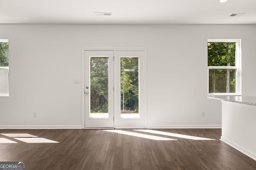
M 90 117 L 109 117 L 108 57 L 90 57 Z

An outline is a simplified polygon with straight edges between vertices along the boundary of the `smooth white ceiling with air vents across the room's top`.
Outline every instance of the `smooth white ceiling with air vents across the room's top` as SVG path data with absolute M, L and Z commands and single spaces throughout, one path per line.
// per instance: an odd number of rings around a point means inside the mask
M 256 0 L 0 0 L 0 23 L 256 24 Z

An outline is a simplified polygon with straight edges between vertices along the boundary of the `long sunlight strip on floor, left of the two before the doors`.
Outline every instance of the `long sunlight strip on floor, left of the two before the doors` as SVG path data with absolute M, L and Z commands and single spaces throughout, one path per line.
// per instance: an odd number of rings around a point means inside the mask
M 153 139 L 153 140 L 157 140 L 157 141 L 172 141 L 172 140 L 176 141 L 176 139 L 170 139 L 170 138 L 158 137 L 158 136 L 152 136 L 152 135 L 145 135 L 145 134 L 134 133 L 134 132 L 129 132 L 129 131 L 121 131 L 121 130 L 102 130 L 102 131 L 119 133 L 119 134 L 123 134 L 123 135 L 130 135 L 130 136 L 134 136 L 134 137 L 142 137 L 142 138 Z

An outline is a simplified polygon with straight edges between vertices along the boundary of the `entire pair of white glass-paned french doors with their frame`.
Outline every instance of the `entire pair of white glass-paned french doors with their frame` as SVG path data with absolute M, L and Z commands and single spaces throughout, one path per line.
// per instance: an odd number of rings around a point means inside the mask
M 83 60 L 84 127 L 146 127 L 146 49 L 84 49 Z

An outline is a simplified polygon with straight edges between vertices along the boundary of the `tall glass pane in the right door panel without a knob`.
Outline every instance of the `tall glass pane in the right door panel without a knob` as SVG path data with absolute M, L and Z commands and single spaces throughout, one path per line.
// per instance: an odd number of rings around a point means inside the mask
M 139 58 L 120 58 L 120 117 L 139 118 Z

